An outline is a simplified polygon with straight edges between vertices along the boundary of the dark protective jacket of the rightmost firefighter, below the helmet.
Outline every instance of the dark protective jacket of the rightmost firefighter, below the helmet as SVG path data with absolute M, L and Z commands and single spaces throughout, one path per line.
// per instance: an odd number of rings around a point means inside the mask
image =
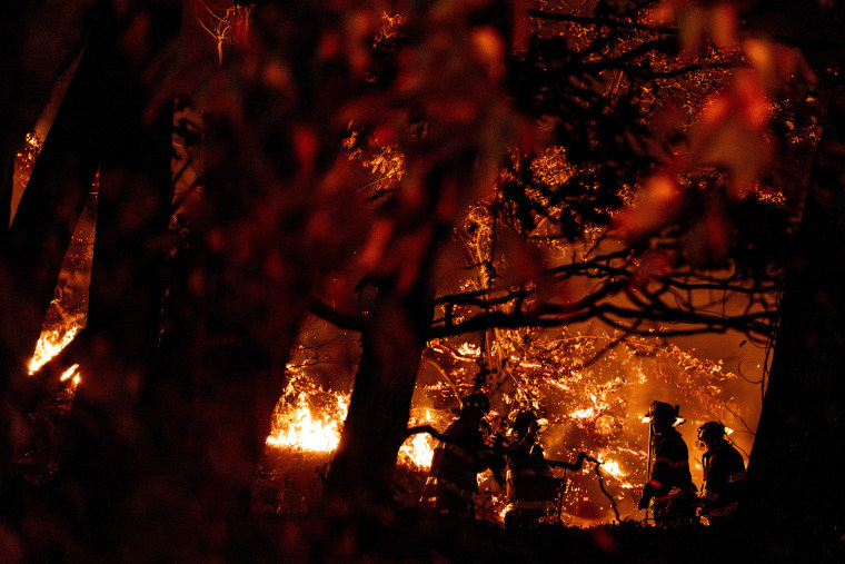
M 702 463 L 702 514 L 714 522 L 737 509 L 745 479 L 745 461 L 730 443 L 722 438 L 704 453 Z

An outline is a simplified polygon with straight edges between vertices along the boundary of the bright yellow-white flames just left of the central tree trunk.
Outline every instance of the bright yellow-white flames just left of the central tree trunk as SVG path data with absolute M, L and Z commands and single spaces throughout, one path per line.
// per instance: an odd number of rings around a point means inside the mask
M 276 406 L 267 444 L 276 448 L 330 453 L 340 442 L 349 395 L 326 392 L 301 377 L 292 377 Z

